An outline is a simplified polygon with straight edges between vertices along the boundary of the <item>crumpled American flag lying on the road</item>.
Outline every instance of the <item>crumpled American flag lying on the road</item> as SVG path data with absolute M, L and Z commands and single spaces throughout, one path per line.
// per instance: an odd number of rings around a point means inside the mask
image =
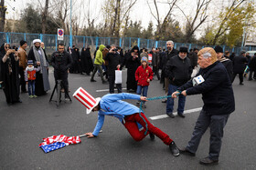
M 52 135 L 47 138 L 43 138 L 43 143 L 39 145 L 45 153 L 57 150 L 61 147 L 70 144 L 79 144 L 80 136 L 66 136 L 66 135 Z

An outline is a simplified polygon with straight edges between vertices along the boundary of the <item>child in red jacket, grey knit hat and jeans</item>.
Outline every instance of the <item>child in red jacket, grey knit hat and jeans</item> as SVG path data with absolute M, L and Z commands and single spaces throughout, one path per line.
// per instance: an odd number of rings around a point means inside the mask
M 153 71 L 150 66 L 147 65 L 147 58 L 144 56 L 140 65 L 135 72 L 135 79 L 137 83 L 137 95 L 147 96 L 147 90 L 149 82 L 153 79 Z M 140 102 L 137 102 L 140 104 Z M 143 101 L 143 107 L 145 108 L 145 102 Z

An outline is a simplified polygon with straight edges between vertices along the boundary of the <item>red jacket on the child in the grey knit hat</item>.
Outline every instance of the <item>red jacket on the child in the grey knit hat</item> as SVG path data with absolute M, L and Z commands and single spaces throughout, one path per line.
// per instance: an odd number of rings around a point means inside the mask
M 147 82 L 147 79 L 152 80 L 153 79 L 153 71 L 152 69 L 146 65 L 145 68 L 143 65 L 140 65 L 136 72 L 135 72 L 135 79 L 138 81 L 137 85 L 147 86 L 149 85 L 149 82 Z

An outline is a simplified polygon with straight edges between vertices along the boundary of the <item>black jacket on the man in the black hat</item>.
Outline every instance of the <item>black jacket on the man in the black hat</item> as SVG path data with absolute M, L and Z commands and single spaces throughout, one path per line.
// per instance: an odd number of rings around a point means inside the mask
M 165 66 L 165 75 L 171 85 L 184 85 L 191 78 L 192 66 L 189 58 L 181 59 L 178 55 L 170 58 Z

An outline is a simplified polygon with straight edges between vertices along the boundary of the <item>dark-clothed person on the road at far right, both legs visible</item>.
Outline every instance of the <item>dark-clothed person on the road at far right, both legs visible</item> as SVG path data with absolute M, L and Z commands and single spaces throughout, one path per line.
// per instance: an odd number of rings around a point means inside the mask
M 234 82 L 236 75 L 239 74 L 240 76 L 240 85 L 243 85 L 243 73 L 246 64 L 248 63 L 245 51 L 241 51 L 239 56 L 235 56 L 233 58 L 233 77 L 231 79 L 232 83 Z

